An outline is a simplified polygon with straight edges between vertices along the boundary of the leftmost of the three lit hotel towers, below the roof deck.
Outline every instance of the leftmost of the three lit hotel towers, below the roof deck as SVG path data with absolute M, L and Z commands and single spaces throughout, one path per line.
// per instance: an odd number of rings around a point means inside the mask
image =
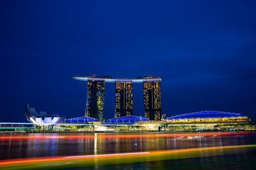
M 104 118 L 105 81 L 87 81 L 86 117 Z

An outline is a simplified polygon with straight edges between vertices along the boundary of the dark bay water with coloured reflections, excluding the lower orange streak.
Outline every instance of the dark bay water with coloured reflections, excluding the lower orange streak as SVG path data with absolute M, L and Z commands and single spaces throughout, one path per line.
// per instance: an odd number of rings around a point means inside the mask
M 0 134 L 0 160 L 113 153 L 154 152 L 207 148 L 212 146 L 255 145 L 256 133 L 183 133 L 183 134 Z M 193 153 L 193 154 L 192 154 Z M 256 169 L 256 147 L 205 151 L 157 153 L 148 157 L 115 157 L 40 168 L 66 169 Z M 129 155 L 128 155 L 129 156 Z M 79 160 L 80 161 L 80 160 Z M 50 161 L 51 162 L 51 161 Z M 1 162 L 0 162 L 1 163 Z M 74 165 L 72 165 L 74 163 Z M 38 163 L 40 164 L 40 162 Z M 37 165 L 38 165 L 37 164 Z M 42 163 L 43 164 L 43 163 Z M 20 166 L 21 165 L 21 166 Z M 66 166 L 67 165 L 67 166 Z M 26 164 L 19 164 L 26 168 Z M 33 169 L 33 166 L 30 167 Z M 35 167 L 36 168 L 36 167 Z M 0 167 L 1 169 L 1 167 Z

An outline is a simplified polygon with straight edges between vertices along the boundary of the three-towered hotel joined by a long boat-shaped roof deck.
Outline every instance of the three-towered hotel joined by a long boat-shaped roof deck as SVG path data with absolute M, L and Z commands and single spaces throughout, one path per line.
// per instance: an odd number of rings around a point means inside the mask
M 143 83 L 145 117 L 161 120 L 161 78 L 112 78 L 109 76 L 73 76 L 87 81 L 86 117 L 104 119 L 105 83 L 115 83 L 115 117 L 133 115 L 132 84 Z

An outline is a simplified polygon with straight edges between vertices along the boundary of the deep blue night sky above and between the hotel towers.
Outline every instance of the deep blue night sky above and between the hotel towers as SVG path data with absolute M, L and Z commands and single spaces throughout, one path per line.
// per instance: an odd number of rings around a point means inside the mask
M 73 75 L 162 76 L 163 113 L 256 113 L 256 1 L 0 1 L 0 122 L 84 115 Z M 114 85 L 106 85 L 106 118 Z M 143 115 L 134 85 L 134 115 Z

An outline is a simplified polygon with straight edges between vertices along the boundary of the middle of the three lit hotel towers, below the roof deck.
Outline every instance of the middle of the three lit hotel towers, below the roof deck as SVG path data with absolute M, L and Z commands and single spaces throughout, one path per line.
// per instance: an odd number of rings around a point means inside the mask
M 115 117 L 133 115 L 132 81 L 115 81 Z

